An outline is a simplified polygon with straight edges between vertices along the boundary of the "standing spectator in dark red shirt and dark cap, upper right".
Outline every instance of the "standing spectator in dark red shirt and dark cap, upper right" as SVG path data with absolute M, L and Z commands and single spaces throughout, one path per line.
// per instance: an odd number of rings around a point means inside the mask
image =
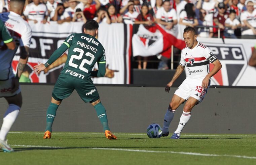
M 228 12 L 224 3 L 218 4 L 218 11 L 213 15 L 214 26 L 217 25 L 220 28 L 220 37 L 224 36 L 225 20 L 228 18 Z M 218 37 L 218 29 L 214 30 L 215 37 Z

